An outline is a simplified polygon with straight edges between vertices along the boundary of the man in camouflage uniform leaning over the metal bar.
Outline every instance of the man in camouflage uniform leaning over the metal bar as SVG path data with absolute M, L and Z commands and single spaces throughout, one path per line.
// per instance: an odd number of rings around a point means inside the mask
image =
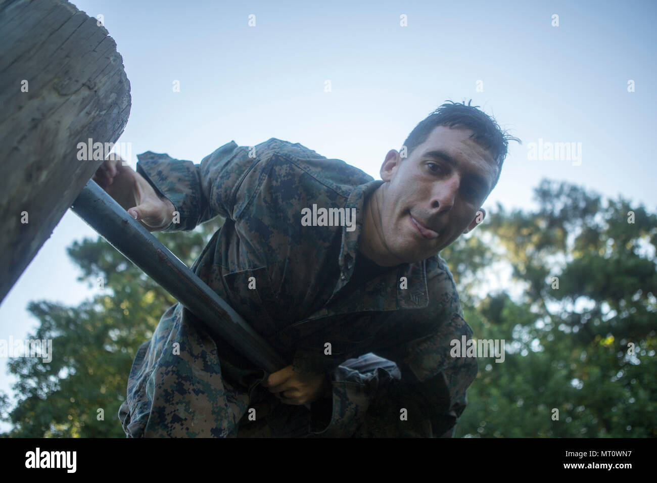
M 192 270 L 290 362 L 267 374 L 176 304 L 135 357 L 127 436 L 452 436 L 478 367 L 450 356 L 472 329 L 438 252 L 485 216 L 508 139 L 443 104 L 381 180 L 275 138 L 106 161 L 95 180 L 150 231 L 225 217 Z

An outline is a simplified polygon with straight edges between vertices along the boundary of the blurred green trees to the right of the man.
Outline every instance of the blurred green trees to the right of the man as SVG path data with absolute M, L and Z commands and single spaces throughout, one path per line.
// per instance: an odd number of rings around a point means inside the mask
M 536 197 L 536 212 L 498 206 L 477 230 L 523 290 L 463 304 L 475 337 L 505 339 L 507 354 L 480 360 L 456 436 L 657 436 L 657 216 L 566 183 Z M 456 250 L 442 254 L 450 266 Z

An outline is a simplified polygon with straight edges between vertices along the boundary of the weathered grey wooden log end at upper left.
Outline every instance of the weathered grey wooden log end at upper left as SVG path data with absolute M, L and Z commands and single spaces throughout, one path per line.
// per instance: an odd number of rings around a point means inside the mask
M 130 83 L 116 43 L 62 0 L 0 1 L 0 301 L 116 143 Z

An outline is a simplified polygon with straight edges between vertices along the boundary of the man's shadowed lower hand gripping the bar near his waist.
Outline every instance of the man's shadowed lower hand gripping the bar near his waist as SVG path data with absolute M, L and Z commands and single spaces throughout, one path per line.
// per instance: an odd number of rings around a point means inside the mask
M 328 375 L 300 374 L 291 365 L 270 374 L 262 385 L 269 388 L 281 402 L 292 405 L 312 403 L 319 398 L 328 398 L 331 394 L 331 382 Z

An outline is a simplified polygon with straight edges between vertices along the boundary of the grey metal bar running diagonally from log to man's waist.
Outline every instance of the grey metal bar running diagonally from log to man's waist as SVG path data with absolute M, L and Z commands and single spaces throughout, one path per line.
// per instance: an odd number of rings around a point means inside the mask
M 287 365 L 231 306 L 95 181 L 89 180 L 71 209 L 196 315 L 208 331 L 228 342 L 257 367 L 273 373 Z

